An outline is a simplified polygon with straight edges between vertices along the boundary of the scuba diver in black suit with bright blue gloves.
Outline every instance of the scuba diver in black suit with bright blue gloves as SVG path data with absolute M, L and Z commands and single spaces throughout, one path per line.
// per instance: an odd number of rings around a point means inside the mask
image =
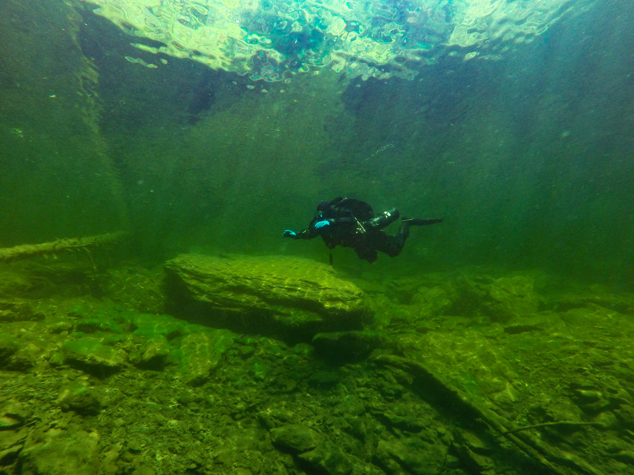
M 365 201 L 339 196 L 332 201 L 322 201 L 317 206 L 313 220 L 304 231 L 295 232 L 287 229 L 282 233 L 282 237 L 313 239 L 321 236 L 330 249 L 331 265 L 332 250 L 337 245 L 353 248 L 360 259 L 372 263 L 378 258 L 377 251 L 389 257 L 398 256 L 410 236 L 410 226 L 424 226 L 443 220 L 403 217 L 396 236 L 383 231 L 385 226 L 396 221 L 398 217 L 399 212 L 396 208 L 374 217 L 372 206 Z

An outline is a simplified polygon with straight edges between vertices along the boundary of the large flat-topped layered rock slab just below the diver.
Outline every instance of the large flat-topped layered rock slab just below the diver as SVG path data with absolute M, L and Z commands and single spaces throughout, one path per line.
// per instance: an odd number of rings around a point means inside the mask
M 165 263 L 165 270 L 171 304 L 203 303 L 216 317 L 211 324 L 221 317 L 247 320 L 248 326 L 268 317 L 288 327 L 313 324 L 316 331 L 354 329 L 365 312 L 361 289 L 309 259 L 184 254 Z

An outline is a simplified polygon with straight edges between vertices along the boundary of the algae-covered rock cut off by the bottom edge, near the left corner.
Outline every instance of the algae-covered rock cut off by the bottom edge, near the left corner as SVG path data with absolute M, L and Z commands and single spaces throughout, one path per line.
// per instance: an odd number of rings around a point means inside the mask
M 81 430 L 34 432 L 20 452 L 23 475 L 94 475 L 98 435 Z

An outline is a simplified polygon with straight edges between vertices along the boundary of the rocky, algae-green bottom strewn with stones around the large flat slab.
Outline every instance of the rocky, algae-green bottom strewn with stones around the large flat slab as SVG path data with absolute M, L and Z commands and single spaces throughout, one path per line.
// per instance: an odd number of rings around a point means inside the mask
M 365 326 L 300 343 L 6 291 L 0 473 L 634 474 L 630 295 L 354 281 Z

